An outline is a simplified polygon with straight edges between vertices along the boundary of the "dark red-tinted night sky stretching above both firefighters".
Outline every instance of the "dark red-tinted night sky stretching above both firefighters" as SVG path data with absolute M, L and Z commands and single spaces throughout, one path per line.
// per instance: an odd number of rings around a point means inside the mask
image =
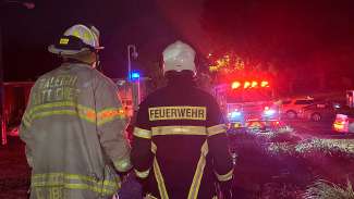
M 47 46 L 82 22 L 101 30 L 102 67 L 126 73 L 126 46 L 138 48 L 134 67 L 160 61 L 176 39 L 205 57 L 235 51 L 280 67 L 353 74 L 354 1 L 351 0 L 36 0 L 34 10 L 2 4 L 5 80 L 35 79 L 59 64 Z M 314 66 L 315 65 L 315 66 Z

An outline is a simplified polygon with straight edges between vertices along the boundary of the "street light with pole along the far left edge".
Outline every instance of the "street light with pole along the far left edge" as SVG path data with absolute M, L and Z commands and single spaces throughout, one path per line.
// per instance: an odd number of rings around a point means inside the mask
M 21 2 L 15 0 L 5 0 L 2 4 L 20 4 L 28 10 L 35 8 L 33 2 Z M 3 89 L 3 63 L 2 63 L 2 21 L 0 21 L 0 122 L 1 122 L 1 144 L 7 144 L 7 124 L 4 120 L 4 89 Z

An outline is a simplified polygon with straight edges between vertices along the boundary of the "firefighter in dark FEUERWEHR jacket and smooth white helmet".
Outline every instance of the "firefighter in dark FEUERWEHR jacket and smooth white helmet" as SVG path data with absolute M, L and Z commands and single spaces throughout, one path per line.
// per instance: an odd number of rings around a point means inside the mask
M 132 162 L 147 198 L 231 198 L 232 159 L 218 103 L 196 88 L 195 51 L 176 41 L 163 51 L 168 86 L 139 105 Z M 220 190 L 220 189 L 219 189 Z

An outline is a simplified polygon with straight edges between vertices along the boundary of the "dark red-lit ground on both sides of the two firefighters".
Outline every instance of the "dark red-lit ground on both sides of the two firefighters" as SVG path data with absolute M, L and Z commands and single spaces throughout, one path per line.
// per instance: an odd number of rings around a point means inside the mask
M 231 151 L 237 154 L 234 198 L 297 199 L 318 179 L 339 186 L 354 182 L 353 136 L 333 134 L 327 123 L 289 124 L 294 130 L 230 137 Z M 27 198 L 29 173 L 24 144 L 10 138 L 0 148 L 0 198 Z

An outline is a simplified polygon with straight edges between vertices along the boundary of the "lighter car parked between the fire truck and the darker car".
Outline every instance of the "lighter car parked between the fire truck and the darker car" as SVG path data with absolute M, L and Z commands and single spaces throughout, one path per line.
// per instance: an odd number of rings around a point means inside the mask
M 314 102 L 314 98 L 310 97 L 281 100 L 282 115 L 286 119 L 296 119 L 302 108 L 313 104 Z

